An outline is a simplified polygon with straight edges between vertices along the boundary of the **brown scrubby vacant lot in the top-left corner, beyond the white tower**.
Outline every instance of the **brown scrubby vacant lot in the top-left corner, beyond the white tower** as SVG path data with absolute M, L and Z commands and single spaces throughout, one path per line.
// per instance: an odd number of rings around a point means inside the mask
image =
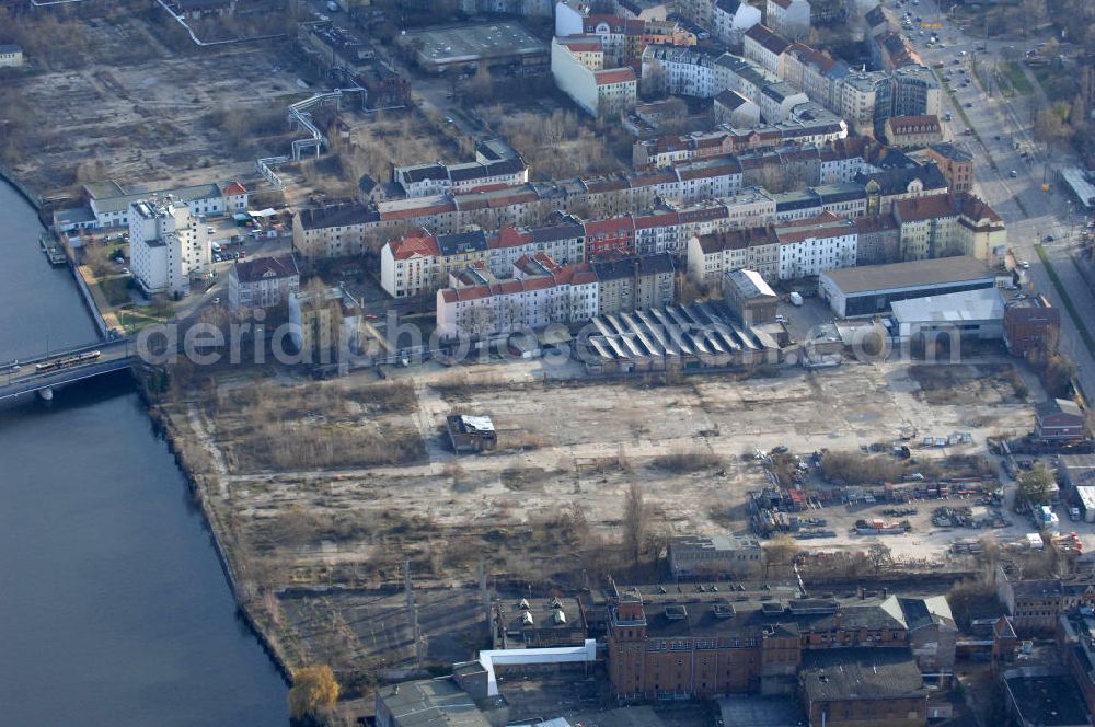
M 84 65 L 4 81 L 19 99 L 5 158 L 20 178 L 42 191 L 96 176 L 199 183 L 250 176 L 257 157 L 286 153 L 285 106 L 301 93 L 287 44 L 174 50 L 157 39 L 160 22 L 70 21 L 82 36 L 70 43 L 100 49 Z M 131 46 L 145 49 L 139 60 L 110 51 Z

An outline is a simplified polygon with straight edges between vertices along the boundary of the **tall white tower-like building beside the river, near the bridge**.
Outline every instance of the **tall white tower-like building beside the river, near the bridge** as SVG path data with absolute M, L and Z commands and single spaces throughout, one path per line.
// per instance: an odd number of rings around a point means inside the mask
M 189 292 L 192 278 L 210 274 L 209 240 L 186 201 L 172 195 L 135 200 L 126 219 L 134 277 L 146 293 L 178 298 Z

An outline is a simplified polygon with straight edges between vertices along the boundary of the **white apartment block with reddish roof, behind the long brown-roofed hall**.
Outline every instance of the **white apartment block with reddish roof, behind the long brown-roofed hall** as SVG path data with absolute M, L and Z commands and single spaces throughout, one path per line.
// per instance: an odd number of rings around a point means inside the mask
M 775 228 L 775 236 L 780 242 L 776 275 L 781 280 L 855 266 L 858 230 L 854 220 L 823 212 L 811 220 L 781 224 Z

